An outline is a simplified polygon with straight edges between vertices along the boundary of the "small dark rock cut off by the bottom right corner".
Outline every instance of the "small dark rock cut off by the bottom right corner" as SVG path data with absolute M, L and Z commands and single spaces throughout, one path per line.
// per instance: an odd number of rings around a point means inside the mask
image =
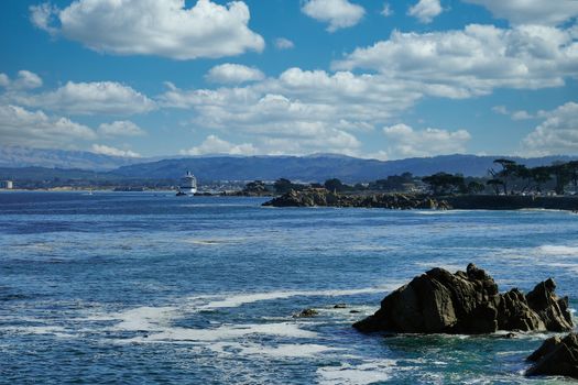
M 578 378 L 578 334 L 569 333 L 564 339 L 553 337 L 544 341 L 528 358 L 534 365 L 526 375 L 563 375 Z

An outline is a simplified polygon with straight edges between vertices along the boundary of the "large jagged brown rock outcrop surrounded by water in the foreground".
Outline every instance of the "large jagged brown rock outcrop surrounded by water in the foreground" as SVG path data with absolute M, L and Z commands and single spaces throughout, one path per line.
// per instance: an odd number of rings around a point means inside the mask
M 391 293 L 381 308 L 353 324 L 363 332 L 491 333 L 497 330 L 571 330 L 568 298 L 558 298 L 547 279 L 524 295 L 500 294 L 483 270 L 469 264 L 451 274 L 433 268 Z

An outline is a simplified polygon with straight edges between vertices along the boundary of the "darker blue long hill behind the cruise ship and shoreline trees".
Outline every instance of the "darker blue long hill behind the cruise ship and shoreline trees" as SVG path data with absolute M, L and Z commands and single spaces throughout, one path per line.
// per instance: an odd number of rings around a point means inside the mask
M 484 176 L 495 158 L 497 156 L 444 155 L 383 162 L 340 155 L 212 156 L 134 164 L 120 167 L 111 174 L 139 178 L 177 178 L 188 169 L 200 180 L 274 180 L 284 177 L 292 180 L 323 182 L 336 177 L 347 183 L 357 183 L 405 172 L 417 176 L 438 172 Z M 570 160 L 567 156 L 509 158 L 530 167 Z

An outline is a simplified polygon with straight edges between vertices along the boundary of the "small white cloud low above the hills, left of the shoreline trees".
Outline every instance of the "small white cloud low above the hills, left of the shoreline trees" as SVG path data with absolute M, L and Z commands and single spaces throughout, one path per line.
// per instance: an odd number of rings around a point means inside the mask
M 464 153 L 471 135 L 466 130 L 447 131 L 439 129 L 414 130 L 406 124 L 383 128 L 388 139 L 388 158 L 422 157 Z

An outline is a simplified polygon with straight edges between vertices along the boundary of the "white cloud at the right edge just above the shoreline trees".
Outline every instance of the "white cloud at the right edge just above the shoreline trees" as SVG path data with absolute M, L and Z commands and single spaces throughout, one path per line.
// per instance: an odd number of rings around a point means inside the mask
M 522 141 L 525 156 L 578 154 L 578 103 L 569 101 L 549 112 Z

